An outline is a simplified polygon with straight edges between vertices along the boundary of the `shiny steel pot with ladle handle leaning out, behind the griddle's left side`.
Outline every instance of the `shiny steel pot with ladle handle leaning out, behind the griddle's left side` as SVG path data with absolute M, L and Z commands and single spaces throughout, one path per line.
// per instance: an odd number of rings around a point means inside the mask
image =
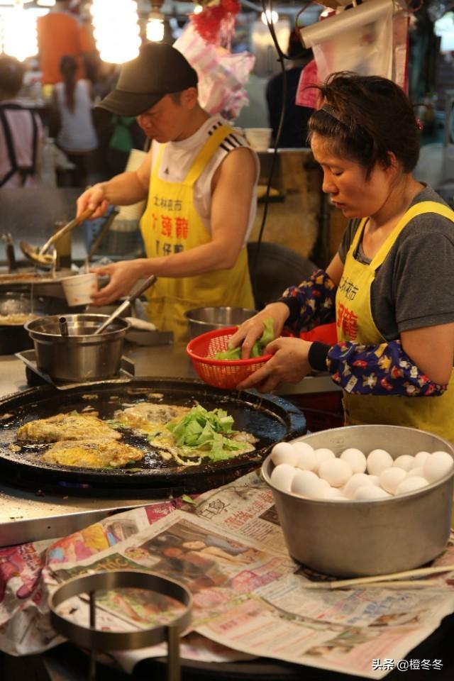
M 40 317 L 26 324 L 33 339 L 38 369 L 54 380 L 86 382 L 118 374 L 123 343 L 130 324 L 117 318 L 94 336 L 106 314 L 66 315 L 68 336 L 60 333 L 60 316 Z

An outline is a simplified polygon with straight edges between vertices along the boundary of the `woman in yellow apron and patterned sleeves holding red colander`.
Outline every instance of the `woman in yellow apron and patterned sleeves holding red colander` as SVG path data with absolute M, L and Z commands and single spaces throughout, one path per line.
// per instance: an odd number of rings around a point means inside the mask
M 274 321 L 274 356 L 238 388 L 269 392 L 326 370 L 343 387 L 345 421 L 414 426 L 454 441 L 454 212 L 412 171 L 419 126 L 392 81 L 351 72 L 319 87 L 309 141 L 323 192 L 350 219 L 338 253 L 231 339 L 248 357 Z M 361 218 L 358 220 L 357 218 Z M 336 319 L 331 347 L 279 338 Z

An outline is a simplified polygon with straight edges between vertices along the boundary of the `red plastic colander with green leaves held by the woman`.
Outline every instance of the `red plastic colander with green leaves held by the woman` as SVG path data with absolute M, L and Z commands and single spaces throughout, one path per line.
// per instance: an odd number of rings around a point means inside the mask
M 186 352 L 201 380 L 216 388 L 236 388 L 238 383 L 260 369 L 272 355 L 262 355 L 249 360 L 215 360 L 214 355 L 228 350 L 228 341 L 238 331 L 238 326 L 219 328 L 196 336 L 187 345 Z

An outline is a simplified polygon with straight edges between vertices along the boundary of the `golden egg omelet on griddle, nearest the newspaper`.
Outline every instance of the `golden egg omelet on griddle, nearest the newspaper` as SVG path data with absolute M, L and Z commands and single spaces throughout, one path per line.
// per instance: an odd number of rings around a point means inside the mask
M 140 449 L 122 442 L 60 441 L 43 454 L 43 461 L 80 468 L 121 468 L 128 463 L 140 461 L 144 455 Z

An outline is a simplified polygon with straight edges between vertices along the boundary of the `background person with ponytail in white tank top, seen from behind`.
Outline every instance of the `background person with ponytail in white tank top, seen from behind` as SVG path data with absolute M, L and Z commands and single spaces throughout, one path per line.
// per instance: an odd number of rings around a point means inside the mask
M 77 80 L 77 62 L 71 55 L 60 61 L 62 80 L 55 84 L 52 107 L 57 114 L 57 145 L 74 163 L 74 186 L 85 187 L 98 140 L 92 121 L 91 84 Z

